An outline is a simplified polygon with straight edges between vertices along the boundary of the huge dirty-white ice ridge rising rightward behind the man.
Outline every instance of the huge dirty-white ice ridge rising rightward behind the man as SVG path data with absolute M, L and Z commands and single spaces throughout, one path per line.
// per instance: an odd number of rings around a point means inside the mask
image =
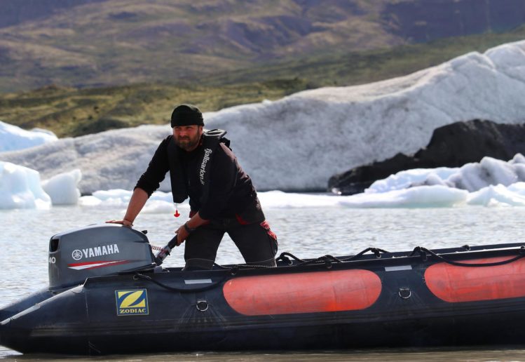
M 456 121 L 525 121 L 525 41 L 468 53 L 414 74 L 361 86 L 306 90 L 205 114 L 223 128 L 259 190 L 322 190 L 329 177 L 428 145 Z M 168 116 L 171 109 L 165 109 Z M 43 177 L 79 168 L 83 194 L 132 189 L 170 126 L 140 126 L 66 138 L 0 159 Z M 169 182 L 161 191 L 170 189 Z

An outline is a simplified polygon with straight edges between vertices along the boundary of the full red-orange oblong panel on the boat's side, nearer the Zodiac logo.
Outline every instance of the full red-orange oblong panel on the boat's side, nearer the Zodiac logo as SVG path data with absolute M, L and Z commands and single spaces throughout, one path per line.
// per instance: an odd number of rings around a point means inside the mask
M 228 281 L 223 292 L 230 307 L 247 316 L 352 311 L 376 302 L 381 279 L 361 269 L 243 276 Z

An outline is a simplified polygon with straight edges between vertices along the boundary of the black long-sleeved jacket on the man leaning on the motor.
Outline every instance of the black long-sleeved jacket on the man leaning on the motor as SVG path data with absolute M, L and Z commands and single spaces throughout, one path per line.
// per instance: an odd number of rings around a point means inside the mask
M 203 135 L 203 138 L 205 137 L 206 133 Z M 201 173 L 205 154 L 203 142 L 192 152 L 186 152 L 177 146 L 174 148 L 172 138 L 170 135 L 161 142 L 135 187 L 144 189 L 151 196 L 164 180 L 165 174 L 170 171 L 172 175 L 181 175 L 177 177 L 178 182 L 185 182 L 186 185 L 182 194 L 189 196 L 191 211 L 198 211 L 203 219 L 237 217 L 240 222 L 245 223 L 264 221 L 264 213 L 252 180 L 239 166 L 236 156 L 227 145 L 219 142 L 212 152 L 206 190 L 202 185 Z M 168 155 L 168 150 L 172 152 L 171 156 Z M 177 154 L 176 163 L 170 162 L 173 153 Z M 185 198 L 181 197 L 181 190 L 172 189 L 172 194 L 175 202 L 182 202 Z

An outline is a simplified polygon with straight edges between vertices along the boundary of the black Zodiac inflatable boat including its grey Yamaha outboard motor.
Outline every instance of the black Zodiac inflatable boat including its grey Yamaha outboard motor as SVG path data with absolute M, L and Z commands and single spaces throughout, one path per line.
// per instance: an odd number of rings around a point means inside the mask
M 462 246 L 162 267 L 144 232 L 57 234 L 49 286 L 0 310 L 22 353 L 353 349 L 525 342 L 525 248 Z

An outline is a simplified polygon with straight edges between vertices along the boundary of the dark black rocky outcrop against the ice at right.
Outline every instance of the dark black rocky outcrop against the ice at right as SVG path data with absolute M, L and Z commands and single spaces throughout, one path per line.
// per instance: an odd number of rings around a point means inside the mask
M 525 124 L 501 124 L 475 119 L 436 128 L 427 147 L 413 156 L 396 154 L 391 159 L 359 166 L 330 177 L 328 189 L 338 194 L 357 194 L 374 181 L 411 168 L 461 167 L 484 156 L 509 160 L 525 153 Z

